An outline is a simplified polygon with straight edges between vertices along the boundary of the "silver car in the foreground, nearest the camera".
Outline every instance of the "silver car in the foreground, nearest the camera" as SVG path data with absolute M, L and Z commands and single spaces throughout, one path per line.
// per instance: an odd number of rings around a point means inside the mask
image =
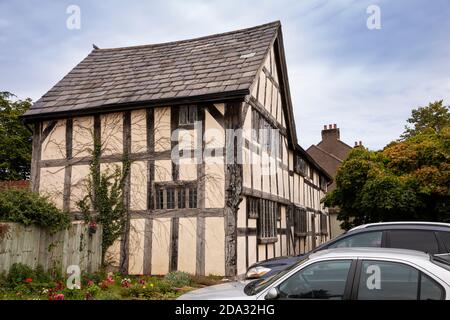
M 450 261 L 404 249 L 322 250 L 269 278 L 206 287 L 179 299 L 450 300 Z

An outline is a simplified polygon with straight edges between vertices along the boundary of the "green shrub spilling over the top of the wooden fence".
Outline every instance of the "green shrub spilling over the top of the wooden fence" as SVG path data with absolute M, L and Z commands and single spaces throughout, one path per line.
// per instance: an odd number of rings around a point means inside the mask
M 69 226 L 70 218 L 47 198 L 28 189 L 7 189 L 0 192 L 0 221 L 37 225 L 50 233 Z

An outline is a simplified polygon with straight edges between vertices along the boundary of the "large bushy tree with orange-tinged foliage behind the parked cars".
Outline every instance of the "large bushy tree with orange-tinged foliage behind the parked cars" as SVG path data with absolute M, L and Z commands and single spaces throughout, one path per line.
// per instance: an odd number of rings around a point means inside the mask
M 424 115 L 436 105 L 427 108 L 421 116 L 413 111 L 420 125 L 408 138 L 381 151 L 358 147 L 350 152 L 336 174 L 336 189 L 324 198 L 327 206 L 340 207 L 341 227 L 395 220 L 450 222 L 450 121 L 428 118 L 425 125 Z

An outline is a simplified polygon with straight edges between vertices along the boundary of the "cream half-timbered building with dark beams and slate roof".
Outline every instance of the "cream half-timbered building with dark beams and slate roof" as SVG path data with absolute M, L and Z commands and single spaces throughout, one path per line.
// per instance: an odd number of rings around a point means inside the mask
M 94 50 L 25 114 L 32 189 L 79 218 L 100 170 L 129 159 L 132 274 L 234 276 L 329 237 L 328 174 L 299 146 L 279 22 Z M 120 250 L 127 248 L 128 250 Z

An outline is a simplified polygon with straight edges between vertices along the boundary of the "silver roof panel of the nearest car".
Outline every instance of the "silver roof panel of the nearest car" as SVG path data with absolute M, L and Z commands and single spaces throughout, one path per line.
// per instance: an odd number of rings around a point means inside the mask
M 430 255 L 416 250 L 393 248 L 336 248 L 325 249 L 312 253 L 310 259 L 328 258 L 387 258 L 401 260 L 430 261 Z

